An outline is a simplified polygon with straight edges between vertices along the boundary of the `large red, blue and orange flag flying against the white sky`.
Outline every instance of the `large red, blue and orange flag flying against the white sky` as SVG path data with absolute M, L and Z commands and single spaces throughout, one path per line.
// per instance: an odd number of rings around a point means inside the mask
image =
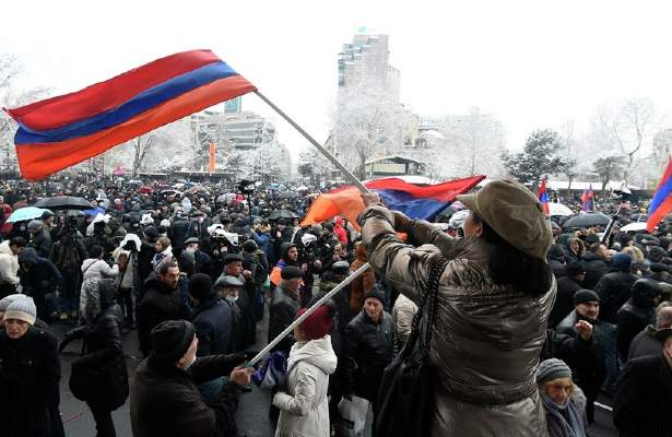
M 257 87 L 210 50 L 172 55 L 84 90 L 4 110 L 24 178 L 36 180 Z

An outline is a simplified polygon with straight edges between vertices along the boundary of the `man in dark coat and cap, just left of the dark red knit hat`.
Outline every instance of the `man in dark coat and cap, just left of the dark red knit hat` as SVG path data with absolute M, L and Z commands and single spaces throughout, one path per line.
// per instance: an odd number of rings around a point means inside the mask
M 297 267 L 287 265 L 282 269 L 281 275 L 282 280 L 273 291 L 269 306 L 269 343 L 292 324 L 300 308 L 298 291 L 303 284 L 304 272 Z M 291 347 L 292 335 L 288 334 L 275 345 L 273 351 L 282 351 L 288 355 Z

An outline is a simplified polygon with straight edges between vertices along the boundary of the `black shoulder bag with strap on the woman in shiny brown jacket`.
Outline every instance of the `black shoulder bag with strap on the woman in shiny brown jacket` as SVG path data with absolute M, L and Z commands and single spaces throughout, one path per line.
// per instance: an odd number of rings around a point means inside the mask
M 429 347 L 438 307 L 438 283 L 447 263 L 448 260 L 439 256 L 432 265 L 409 341 L 382 374 L 374 411 L 375 437 L 429 435 L 436 386 Z M 421 329 L 423 317 L 425 324 Z

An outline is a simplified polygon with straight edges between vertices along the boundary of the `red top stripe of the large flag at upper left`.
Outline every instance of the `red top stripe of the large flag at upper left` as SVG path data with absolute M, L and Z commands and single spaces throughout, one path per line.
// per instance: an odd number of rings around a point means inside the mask
M 220 60 L 210 50 L 175 54 L 81 91 L 5 111 L 28 129 L 56 129 L 113 109 L 148 88 Z

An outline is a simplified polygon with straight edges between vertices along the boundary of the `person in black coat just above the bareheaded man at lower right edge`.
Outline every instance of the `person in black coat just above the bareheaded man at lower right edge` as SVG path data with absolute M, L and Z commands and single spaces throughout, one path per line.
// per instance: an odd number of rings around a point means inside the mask
M 627 361 L 630 342 L 635 335 L 653 321 L 656 306 L 660 303 L 661 293 L 660 284 L 652 280 L 637 280 L 633 284 L 633 297 L 621 307 L 616 315 L 616 326 L 618 327 L 616 345 L 621 362 Z

